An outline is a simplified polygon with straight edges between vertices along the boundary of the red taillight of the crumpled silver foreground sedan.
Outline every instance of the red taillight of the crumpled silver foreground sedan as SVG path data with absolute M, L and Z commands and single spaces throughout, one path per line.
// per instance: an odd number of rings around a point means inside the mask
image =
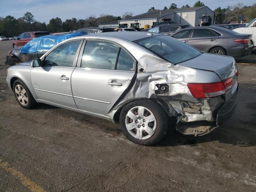
M 194 98 L 210 98 L 225 94 L 232 88 L 233 78 L 215 83 L 188 83 L 188 88 Z

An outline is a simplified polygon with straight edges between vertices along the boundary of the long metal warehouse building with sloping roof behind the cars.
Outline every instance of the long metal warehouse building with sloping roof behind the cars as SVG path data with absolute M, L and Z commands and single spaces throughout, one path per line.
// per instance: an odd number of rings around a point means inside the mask
M 207 15 L 208 17 L 204 17 Z M 190 26 L 199 26 L 203 18 L 204 22 L 212 24 L 214 12 L 208 6 L 189 7 L 180 9 L 158 10 L 136 15 L 124 20 L 119 20 L 119 26 L 122 28 L 143 28 L 144 25 L 155 26 L 160 20 L 175 21 L 177 24 L 189 24 Z

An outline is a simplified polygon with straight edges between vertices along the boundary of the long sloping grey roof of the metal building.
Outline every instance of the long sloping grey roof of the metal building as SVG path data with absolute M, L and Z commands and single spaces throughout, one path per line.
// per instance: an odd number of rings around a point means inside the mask
M 129 17 L 129 18 L 124 19 L 124 20 L 156 19 L 156 18 L 160 17 L 160 12 L 161 12 L 161 17 L 163 17 L 165 15 L 175 13 L 175 12 L 195 11 L 195 10 L 198 10 L 198 9 L 201 9 L 201 8 L 204 8 L 204 7 L 207 7 L 207 6 L 157 10 L 157 11 L 151 11 L 151 12 L 143 13 L 143 14 L 136 15 L 136 16 L 133 16 L 133 17 Z M 124 21 L 124 20 L 122 20 L 122 21 Z

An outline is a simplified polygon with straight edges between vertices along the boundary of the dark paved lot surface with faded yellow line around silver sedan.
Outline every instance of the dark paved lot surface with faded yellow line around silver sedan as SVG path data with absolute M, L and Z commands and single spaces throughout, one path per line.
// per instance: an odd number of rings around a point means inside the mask
M 10 46 L 0 42 L 0 64 Z M 106 120 L 45 104 L 21 108 L 0 66 L 0 191 L 255 192 L 256 64 L 239 62 L 230 119 L 201 137 L 170 128 L 153 147 L 133 144 Z

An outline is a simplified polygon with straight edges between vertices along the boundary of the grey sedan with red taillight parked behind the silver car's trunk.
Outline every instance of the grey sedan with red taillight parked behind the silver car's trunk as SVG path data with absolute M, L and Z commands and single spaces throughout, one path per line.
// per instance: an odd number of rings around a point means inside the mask
M 239 34 L 221 27 L 201 26 L 180 30 L 172 37 L 203 52 L 242 57 L 252 51 L 252 35 Z

